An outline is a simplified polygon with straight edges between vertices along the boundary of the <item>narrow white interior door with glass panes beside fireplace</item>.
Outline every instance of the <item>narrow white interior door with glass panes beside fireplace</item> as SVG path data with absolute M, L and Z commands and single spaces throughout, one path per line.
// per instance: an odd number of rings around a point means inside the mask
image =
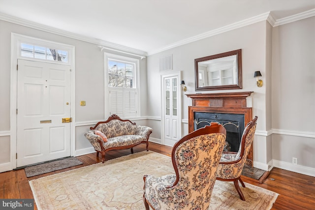
M 181 136 L 179 77 L 163 78 L 164 144 L 174 146 Z

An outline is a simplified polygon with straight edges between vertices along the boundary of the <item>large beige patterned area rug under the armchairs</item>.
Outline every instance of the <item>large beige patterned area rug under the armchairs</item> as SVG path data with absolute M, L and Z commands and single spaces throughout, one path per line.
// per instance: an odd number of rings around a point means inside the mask
M 171 158 L 142 151 L 105 163 L 31 180 L 39 210 L 144 210 L 143 175 L 174 174 Z M 278 194 L 245 183 L 246 201 L 233 182 L 216 181 L 210 210 L 270 210 Z

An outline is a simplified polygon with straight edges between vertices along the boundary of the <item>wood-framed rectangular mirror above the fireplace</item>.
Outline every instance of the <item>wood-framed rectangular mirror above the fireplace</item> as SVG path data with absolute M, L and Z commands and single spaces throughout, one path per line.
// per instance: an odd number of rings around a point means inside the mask
M 242 89 L 242 49 L 195 59 L 196 90 Z

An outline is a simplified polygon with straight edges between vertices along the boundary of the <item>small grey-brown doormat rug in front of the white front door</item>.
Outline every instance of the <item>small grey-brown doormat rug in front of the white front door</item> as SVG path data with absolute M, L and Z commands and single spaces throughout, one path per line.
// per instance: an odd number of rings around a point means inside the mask
M 34 166 L 26 167 L 25 173 L 26 177 L 34 177 L 41 174 L 46 174 L 53 171 L 58 171 L 61 169 L 69 168 L 72 166 L 77 166 L 83 164 L 76 157 L 67 157 L 61 160 L 51 161 L 47 163 L 42 163 Z

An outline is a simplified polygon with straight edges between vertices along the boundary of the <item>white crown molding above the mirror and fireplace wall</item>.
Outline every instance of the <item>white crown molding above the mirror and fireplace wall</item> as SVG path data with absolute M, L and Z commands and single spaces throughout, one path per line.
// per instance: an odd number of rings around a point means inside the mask
M 167 45 L 167 46 L 165 46 L 163 48 L 159 48 L 156 51 L 148 52 L 148 56 L 156 54 L 156 53 L 159 53 L 159 52 L 162 52 L 162 51 L 165 51 L 165 50 L 169 50 L 169 49 L 174 48 L 174 47 L 178 47 L 178 46 L 181 46 L 181 45 L 184 45 L 184 44 L 188 44 L 190 42 L 198 41 L 200 39 L 208 38 L 210 36 L 218 35 L 220 33 L 224 33 L 224 32 L 230 31 L 230 30 L 239 29 L 239 28 L 242 28 L 242 27 L 245 27 L 245 26 L 257 23 L 257 22 L 260 22 L 260 21 L 267 20 L 269 15 L 270 15 L 270 12 L 266 12 L 266 13 L 263 13 L 261 15 L 254 16 L 252 18 L 248 18 L 248 19 L 245 19 L 245 20 L 242 20 L 242 21 L 239 21 L 239 22 L 227 25 L 227 26 L 223 26 L 223 27 L 221 27 L 219 29 L 210 30 L 210 31 L 207 31 L 205 33 L 198 34 L 196 36 L 192 36 L 192 37 L 189 37 L 187 39 L 183 39 L 181 41 L 178 41 L 178 42 L 175 42 L 173 44 Z

